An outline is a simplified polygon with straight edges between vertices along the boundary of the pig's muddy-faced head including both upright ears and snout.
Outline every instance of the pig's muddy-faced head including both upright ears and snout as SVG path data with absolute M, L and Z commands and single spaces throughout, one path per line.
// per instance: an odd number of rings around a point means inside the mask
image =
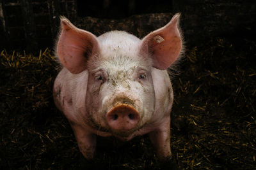
M 86 124 L 129 136 L 150 122 L 155 113 L 152 67 L 167 69 L 179 57 L 178 22 L 179 14 L 141 40 L 122 31 L 96 37 L 61 18 L 60 62 L 72 74 L 88 74 Z

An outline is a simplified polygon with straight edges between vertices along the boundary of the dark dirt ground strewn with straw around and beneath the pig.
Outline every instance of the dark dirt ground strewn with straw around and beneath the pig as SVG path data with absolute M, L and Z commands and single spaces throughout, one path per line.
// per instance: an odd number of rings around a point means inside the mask
M 81 169 L 72 129 L 52 100 L 51 50 L 0 52 L 0 169 Z M 256 169 L 255 54 L 246 38 L 188 46 L 172 78 L 171 146 L 180 169 Z M 98 141 L 100 169 L 159 169 L 147 135 Z

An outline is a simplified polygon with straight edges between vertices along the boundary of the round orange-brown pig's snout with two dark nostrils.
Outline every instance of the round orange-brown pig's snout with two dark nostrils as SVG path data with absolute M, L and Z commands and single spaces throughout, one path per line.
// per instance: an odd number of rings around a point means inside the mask
M 129 104 L 118 104 L 108 111 L 106 117 L 111 129 L 127 131 L 136 127 L 140 120 L 140 113 Z

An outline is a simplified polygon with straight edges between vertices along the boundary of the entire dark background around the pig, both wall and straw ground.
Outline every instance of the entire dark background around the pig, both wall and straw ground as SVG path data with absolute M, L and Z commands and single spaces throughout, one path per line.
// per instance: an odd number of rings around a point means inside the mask
M 256 169 L 255 8 L 242 0 L 1 0 L 0 169 L 90 165 L 52 100 L 60 15 L 97 36 L 118 29 L 143 38 L 177 12 L 186 41 L 171 76 L 177 165 Z M 159 169 L 147 135 L 127 143 L 99 138 L 94 161 L 98 169 Z

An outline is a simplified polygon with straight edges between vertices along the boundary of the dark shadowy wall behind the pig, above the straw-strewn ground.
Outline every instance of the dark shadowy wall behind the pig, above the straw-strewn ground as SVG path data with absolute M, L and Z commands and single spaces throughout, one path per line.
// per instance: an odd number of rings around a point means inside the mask
M 97 36 L 112 29 L 122 29 L 143 37 L 166 24 L 174 13 L 181 12 L 182 30 L 188 45 L 190 42 L 200 44 L 212 36 L 255 37 L 253 0 L 1 0 L 0 4 L 2 48 L 35 50 L 51 47 L 58 32 L 60 15 Z M 156 15 L 152 17 L 152 13 Z M 140 16 L 131 17 L 134 15 Z M 120 22 L 122 24 L 118 25 Z

